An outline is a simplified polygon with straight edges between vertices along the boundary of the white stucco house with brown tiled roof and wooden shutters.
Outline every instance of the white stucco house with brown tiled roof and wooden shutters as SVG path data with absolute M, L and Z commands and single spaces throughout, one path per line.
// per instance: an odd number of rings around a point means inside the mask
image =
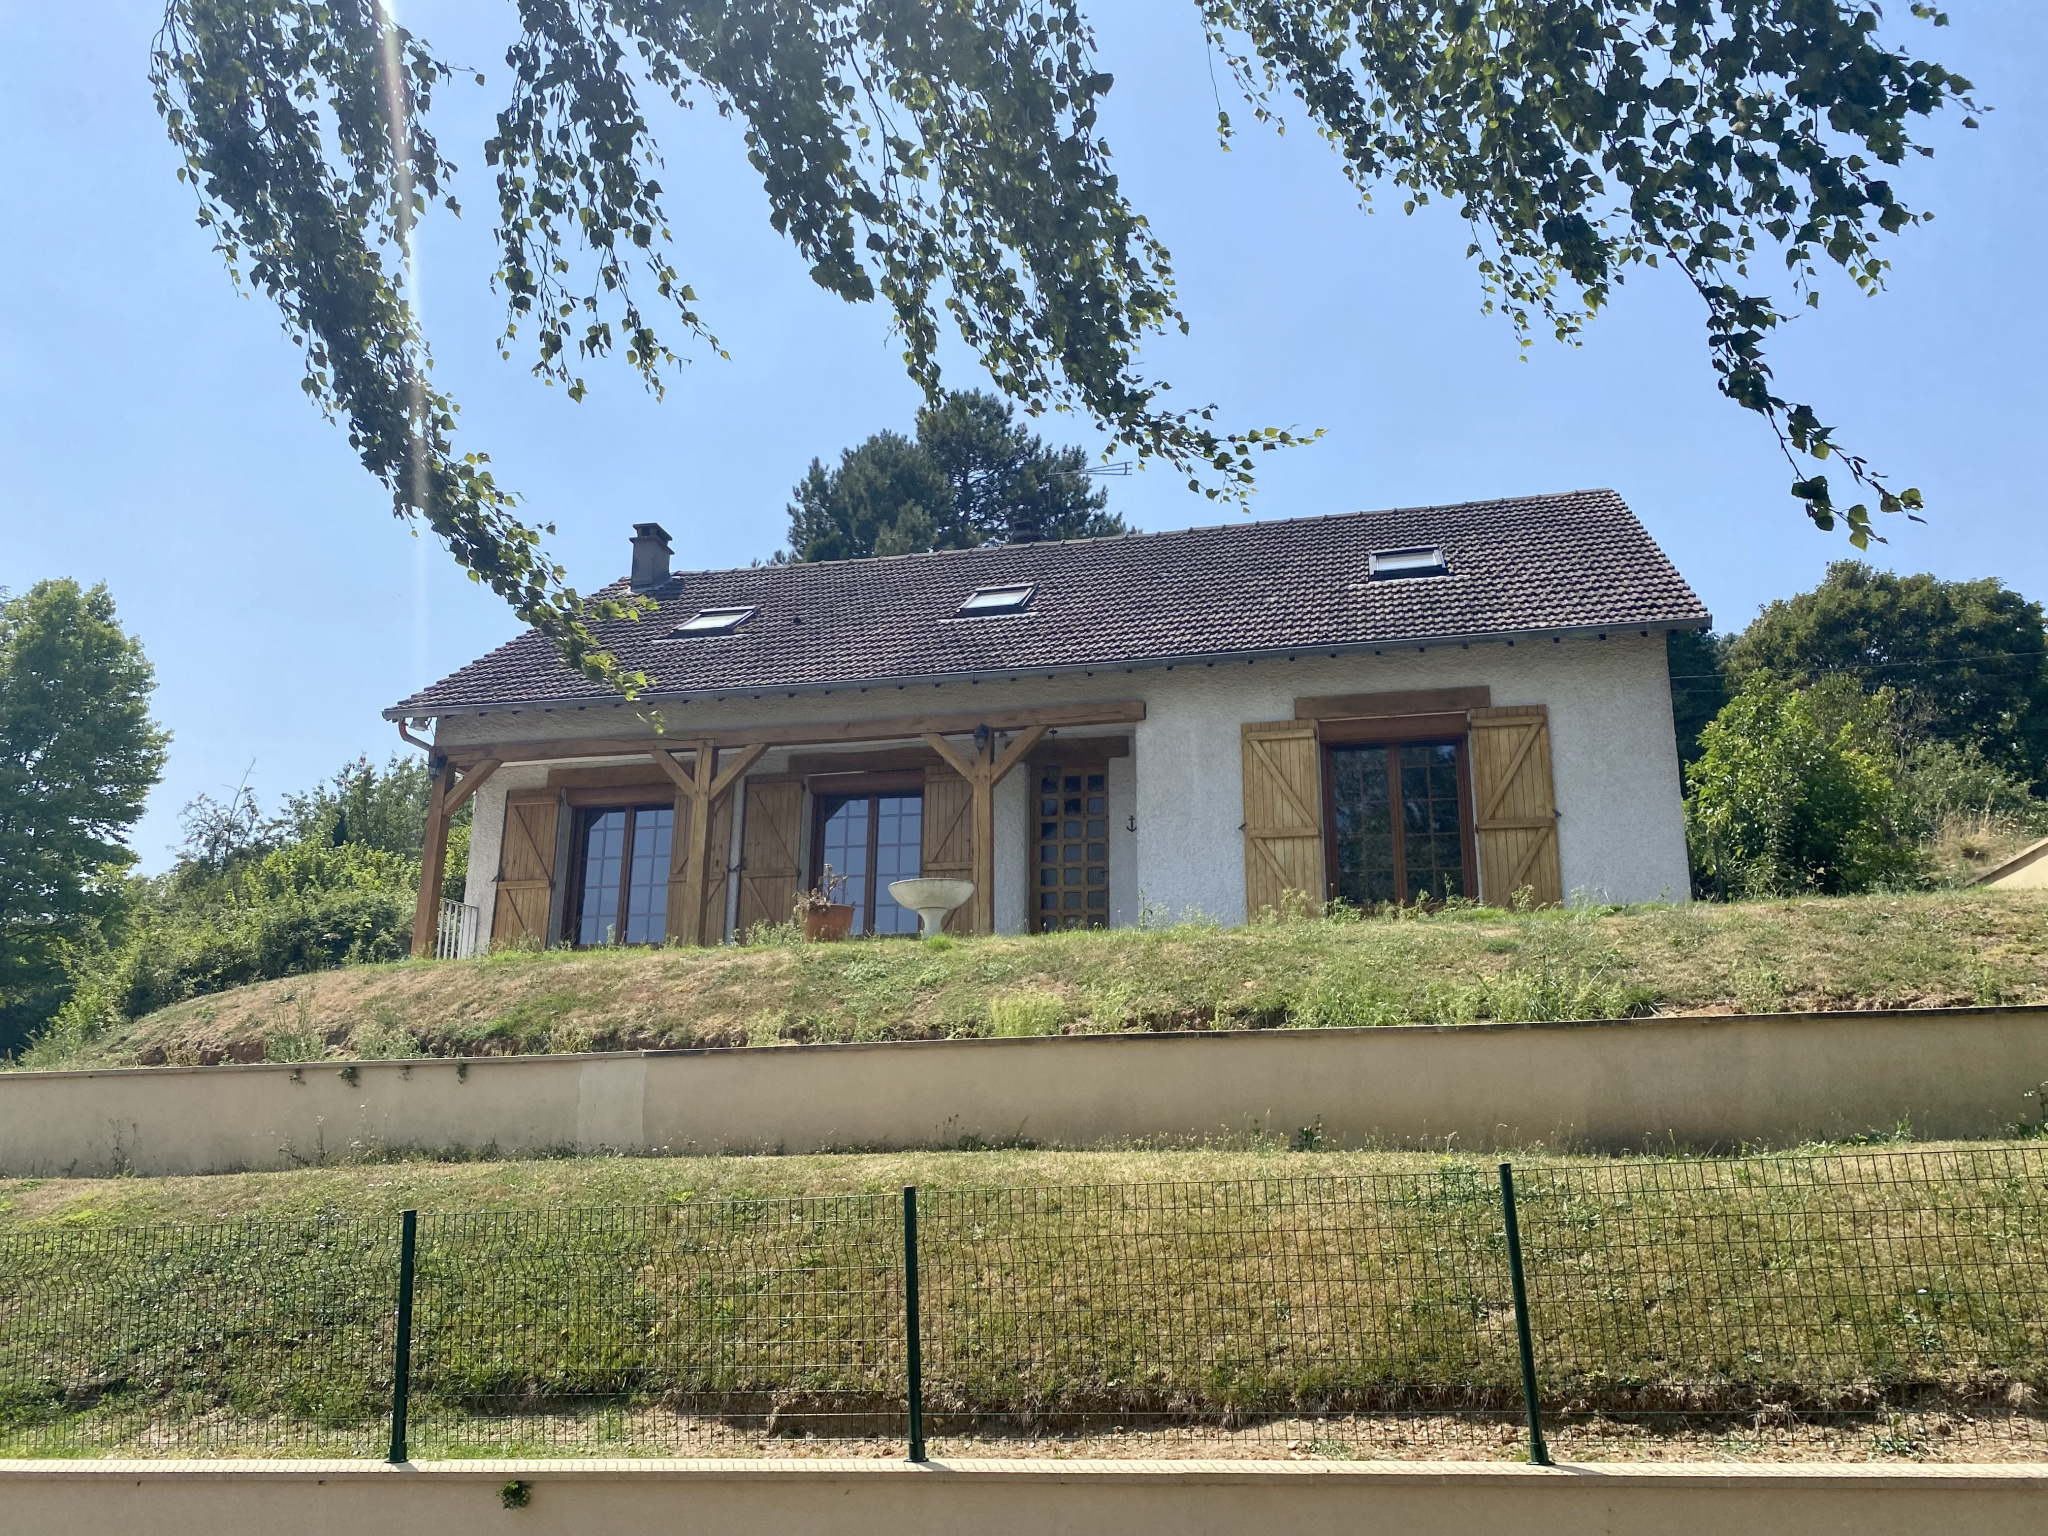
M 721 942 L 825 864 L 862 934 L 920 870 L 961 932 L 1688 893 L 1665 631 L 1710 616 L 1614 492 L 670 561 L 637 524 L 659 608 L 600 627 L 641 698 L 528 633 L 387 711 L 436 766 L 416 952 L 467 799 L 485 944 Z

